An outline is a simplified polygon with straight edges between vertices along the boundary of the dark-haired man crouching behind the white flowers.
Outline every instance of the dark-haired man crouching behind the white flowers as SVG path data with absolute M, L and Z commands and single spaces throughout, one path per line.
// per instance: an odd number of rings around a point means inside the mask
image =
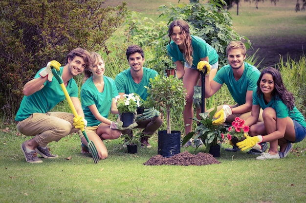
M 143 67 L 145 56 L 140 46 L 129 46 L 126 55 L 130 68 L 117 74 L 115 78 L 118 93 L 119 95 L 137 93 L 143 100 L 146 100 L 147 89 L 144 86 L 149 85 L 150 78 L 154 78 L 157 72 Z M 136 123 L 138 126 L 136 128 L 144 129 L 142 131 L 144 136 L 140 138 L 141 147 L 151 148 L 149 138 L 163 124 L 163 119 L 154 108 L 145 109 L 144 111 L 143 114 L 137 115 Z M 132 131 L 123 130 L 122 134 L 132 136 Z

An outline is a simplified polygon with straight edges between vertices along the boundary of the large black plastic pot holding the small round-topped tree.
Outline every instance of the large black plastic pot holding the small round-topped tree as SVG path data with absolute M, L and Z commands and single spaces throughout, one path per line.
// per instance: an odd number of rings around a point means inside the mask
M 170 134 L 167 130 L 158 131 L 158 151 L 157 154 L 163 157 L 172 157 L 180 153 L 180 131 L 171 131 Z

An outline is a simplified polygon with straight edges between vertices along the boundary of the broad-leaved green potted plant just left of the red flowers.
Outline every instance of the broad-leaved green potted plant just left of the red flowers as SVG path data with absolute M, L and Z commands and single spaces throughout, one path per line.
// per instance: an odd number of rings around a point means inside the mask
M 213 125 L 213 116 L 217 111 L 217 107 L 210 113 L 204 112 L 200 113 L 201 119 L 193 118 L 194 120 L 200 123 L 197 126 L 194 132 L 189 132 L 184 138 L 182 145 L 185 145 L 186 142 L 191 139 L 194 134 L 197 134 L 195 139 L 200 138 L 206 147 L 206 152 L 208 153 L 211 146 L 221 145 L 221 142 L 224 140 L 224 134 L 227 132 L 227 127 L 224 125 Z

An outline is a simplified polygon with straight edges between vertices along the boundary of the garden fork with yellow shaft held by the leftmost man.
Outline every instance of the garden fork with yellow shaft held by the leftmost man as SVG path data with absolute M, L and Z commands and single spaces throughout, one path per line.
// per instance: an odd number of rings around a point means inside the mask
M 76 109 L 75 109 L 75 107 L 74 107 L 74 105 L 73 105 L 73 103 L 72 103 L 72 100 L 71 100 L 71 98 L 70 98 L 70 96 L 69 96 L 69 94 L 68 94 L 68 92 L 67 92 L 67 89 L 66 89 L 66 87 L 65 87 L 65 85 L 64 85 L 64 82 L 63 82 L 63 79 L 62 79 L 62 73 L 60 72 L 60 70 L 56 70 L 56 68 L 53 67 L 53 66 L 51 66 L 51 71 L 52 71 L 52 74 L 54 75 L 54 77 L 55 77 L 55 78 L 57 79 L 57 81 L 60 83 L 60 85 L 61 85 L 61 87 L 62 87 L 62 89 L 63 89 L 63 92 L 65 93 L 66 99 L 67 99 L 67 101 L 68 101 L 68 104 L 69 104 L 69 106 L 70 106 L 70 109 L 71 109 L 71 111 L 72 111 L 74 117 L 77 117 L 77 116 L 78 116 L 78 113 L 77 113 L 77 111 L 76 111 Z M 84 137 L 85 137 L 86 140 L 87 140 L 87 143 L 88 143 L 87 146 L 88 146 L 89 152 L 91 153 L 91 156 L 92 156 L 92 158 L 93 158 L 93 162 L 94 162 L 95 164 L 97 164 L 97 163 L 99 162 L 99 155 L 98 155 L 97 148 L 96 148 L 96 146 L 94 145 L 94 143 L 88 139 L 87 134 L 86 134 L 86 132 L 85 132 L 85 129 L 82 128 L 81 131 L 82 131 Z

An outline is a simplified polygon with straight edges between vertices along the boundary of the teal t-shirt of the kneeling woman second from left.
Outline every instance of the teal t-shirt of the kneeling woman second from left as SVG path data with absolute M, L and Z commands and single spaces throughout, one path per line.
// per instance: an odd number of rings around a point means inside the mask
M 87 126 L 98 126 L 101 121 L 97 120 L 92 112 L 89 110 L 88 106 L 93 104 L 96 105 L 100 114 L 108 118 L 109 111 L 112 103 L 112 99 L 118 95 L 118 91 L 115 85 L 115 81 L 108 77 L 104 78 L 104 90 L 99 92 L 92 81 L 92 76 L 89 77 L 81 88 L 81 101 L 82 109 L 85 114 L 85 119 L 87 120 Z

